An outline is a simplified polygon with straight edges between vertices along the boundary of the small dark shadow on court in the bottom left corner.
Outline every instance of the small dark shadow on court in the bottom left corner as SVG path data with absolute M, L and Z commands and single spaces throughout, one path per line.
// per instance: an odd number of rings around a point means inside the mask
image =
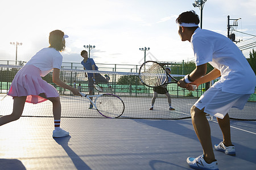
M 18 159 L 0 159 L 1 170 L 26 170 L 22 162 Z

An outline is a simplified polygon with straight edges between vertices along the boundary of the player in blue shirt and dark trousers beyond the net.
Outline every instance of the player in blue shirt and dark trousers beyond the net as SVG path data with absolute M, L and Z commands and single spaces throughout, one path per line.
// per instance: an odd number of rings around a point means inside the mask
M 98 70 L 98 67 L 96 66 L 94 60 L 92 58 L 88 58 L 88 52 L 86 50 L 82 50 L 81 51 L 81 56 L 82 58 L 84 58 L 81 61 L 81 65 L 84 66 L 84 70 Z M 93 91 L 94 91 L 94 80 L 96 80 L 96 82 L 101 82 L 101 83 L 108 83 L 109 82 L 109 76 L 105 75 L 102 76 L 99 73 L 88 73 L 88 75 L 85 73 L 85 77 L 88 78 L 88 87 L 89 87 L 89 95 L 93 95 Z M 90 99 L 92 100 L 93 97 L 90 97 Z M 93 104 L 90 104 L 89 109 L 93 108 Z

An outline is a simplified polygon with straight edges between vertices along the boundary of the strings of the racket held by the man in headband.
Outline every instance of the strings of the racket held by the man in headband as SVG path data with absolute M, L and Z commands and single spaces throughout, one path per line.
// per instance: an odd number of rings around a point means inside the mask
M 140 78 L 148 86 L 160 86 L 167 80 L 166 71 L 158 63 L 146 62 L 142 69 Z

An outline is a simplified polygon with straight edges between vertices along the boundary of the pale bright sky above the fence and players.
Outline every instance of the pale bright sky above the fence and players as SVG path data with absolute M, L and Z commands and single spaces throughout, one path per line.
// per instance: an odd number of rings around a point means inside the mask
M 63 62 L 81 62 L 84 45 L 95 45 L 90 58 L 96 63 L 140 65 L 146 60 L 191 61 L 188 41 L 177 33 L 177 16 L 199 7 L 191 0 L 3 0 L 0 6 L 0 60 L 28 61 L 47 47 L 49 32 L 60 29 L 69 36 Z M 203 8 L 203 29 L 227 35 L 227 16 L 238 19 L 237 31 L 256 35 L 255 0 L 208 0 Z M 232 24 L 232 22 L 230 23 Z M 236 33 L 237 46 L 255 42 L 256 37 Z M 253 39 L 251 39 L 253 38 Z M 255 48 L 256 49 L 256 48 Z M 252 49 L 243 50 L 246 58 Z

